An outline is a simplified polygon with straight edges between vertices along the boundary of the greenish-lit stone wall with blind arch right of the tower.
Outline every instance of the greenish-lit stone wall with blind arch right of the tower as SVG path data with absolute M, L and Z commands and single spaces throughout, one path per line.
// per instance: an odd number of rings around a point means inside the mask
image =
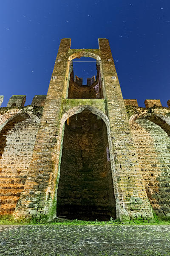
M 130 127 L 147 197 L 160 217 L 170 217 L 170 122 L 167 108 L 134 108 Z M 152 113 L 150 113 L 152 112 Z M 157 116 L 158 114 L 158 116 Z M 161 116 L 161 118 L 159 117 Z M 165 119 L 166 122 L 163 120 Z

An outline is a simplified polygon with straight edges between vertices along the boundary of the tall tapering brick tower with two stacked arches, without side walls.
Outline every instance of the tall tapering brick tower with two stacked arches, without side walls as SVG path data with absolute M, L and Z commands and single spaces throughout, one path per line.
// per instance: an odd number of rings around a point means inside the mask
M 61 40 L 15 218 L 153 218 L 107 39 L 99 49 Z M 96 59 L 96 79 L 72 60 Z M 76 74 L 75 74 L 76 75 Z

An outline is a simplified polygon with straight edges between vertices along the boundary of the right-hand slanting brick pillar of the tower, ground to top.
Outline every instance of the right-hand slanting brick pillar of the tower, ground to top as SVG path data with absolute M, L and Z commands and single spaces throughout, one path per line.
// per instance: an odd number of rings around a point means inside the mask
M 151 207 L 137 163 L 122 92 L 107 39 L 99 39 L 102 74 L 108 103 L 113 151 L 113 182 L 118 218 L 152 218 Z

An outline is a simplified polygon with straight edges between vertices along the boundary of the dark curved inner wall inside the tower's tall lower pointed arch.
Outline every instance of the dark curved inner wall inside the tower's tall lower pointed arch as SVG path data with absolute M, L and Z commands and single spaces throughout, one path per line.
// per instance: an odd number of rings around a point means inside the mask
M 106 125 L 87 109 L 65 122 L 57 216 L 116 218 Z

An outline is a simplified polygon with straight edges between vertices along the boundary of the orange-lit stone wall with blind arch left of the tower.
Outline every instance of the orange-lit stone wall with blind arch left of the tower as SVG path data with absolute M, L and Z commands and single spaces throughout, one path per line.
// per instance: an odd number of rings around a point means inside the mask
M 0 214 L 11 214 L 28 176 L 39 118 L 33 109 L 1 109 Z M 4 113 L 3 113 L 4 112 Z M 30 116 L 30 115 L 31 116 Z

